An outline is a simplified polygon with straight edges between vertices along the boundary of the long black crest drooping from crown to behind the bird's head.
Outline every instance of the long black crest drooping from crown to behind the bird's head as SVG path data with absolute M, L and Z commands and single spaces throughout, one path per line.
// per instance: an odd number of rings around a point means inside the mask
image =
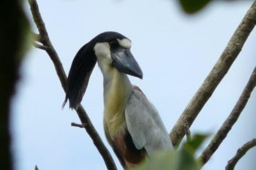
M 115 39 L 124 39 L 123 35 L 116 32 L 104 32 L 96 36 L 90 42 L 82 46 L 77 52 L 67 79 L 66 98 L 62 105 L 69 100 L 69 107 L 75 108 L 84 96 L 92 70 L 96 64 L 97 57 L 94 52 L 94 46 L 97 42 L 110 42 Z

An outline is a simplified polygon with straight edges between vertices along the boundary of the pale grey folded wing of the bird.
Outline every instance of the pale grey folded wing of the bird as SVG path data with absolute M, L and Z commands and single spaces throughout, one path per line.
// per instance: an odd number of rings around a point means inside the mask
M 172 148 L 158 111 L 137 86 L 126 105 L 125 119 L 137 149 L 144 147 L 151 155 L 156 150 Z

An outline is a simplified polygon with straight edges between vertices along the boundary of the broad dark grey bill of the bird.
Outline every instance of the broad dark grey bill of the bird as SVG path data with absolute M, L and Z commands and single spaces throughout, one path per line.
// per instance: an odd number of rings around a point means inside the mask
M 118 71 L 142 79 L 143 73 L 130 49 L 121 48 L 115 50 L 111 52 L 111 57 L 113 59 L 112 64 Z

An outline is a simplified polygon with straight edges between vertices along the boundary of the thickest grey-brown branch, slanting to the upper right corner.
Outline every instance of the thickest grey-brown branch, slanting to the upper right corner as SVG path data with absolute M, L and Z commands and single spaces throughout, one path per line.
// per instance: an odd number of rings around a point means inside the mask
M 173 146 L 178 147 L 180 141 L 185 135 L 184 124 L 188 122 L 189 127 L 192 125 L 197 115 L 213 94 L 214 90 L 226 75 L 232 63 L 241 51 L 245 41 L 250 35 L 256 23 L 256 2 L 254 2 L 242 22 L 236 29 L 232 38 L 228 42 L 225 50 L 212 68 L 209 75 L 204 80 L 201 87 L 189 102 L 186 109 L 183 111 L 179 120 L 171 130 L 170 138 Z

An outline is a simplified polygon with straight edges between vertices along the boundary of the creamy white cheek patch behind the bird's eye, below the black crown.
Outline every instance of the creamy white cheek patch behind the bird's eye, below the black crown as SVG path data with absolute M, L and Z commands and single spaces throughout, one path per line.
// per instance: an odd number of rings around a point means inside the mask
M 98 42 L 95 44 L 93 49 L 97 57 L 105 57 L 111 59 L 110 46 L 108 42 Z

